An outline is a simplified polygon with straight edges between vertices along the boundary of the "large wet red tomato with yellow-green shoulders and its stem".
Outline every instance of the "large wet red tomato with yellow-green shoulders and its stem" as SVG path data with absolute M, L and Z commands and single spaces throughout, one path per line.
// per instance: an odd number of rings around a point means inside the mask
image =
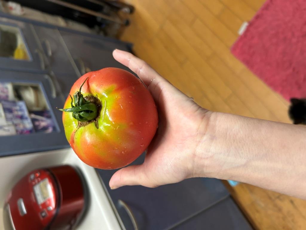
M 70 95 L 61 109 L 65 134 L 84 163 L 124 167 L 150 144 L 158 124 L 156 106 L 144 84 L 128 71 L 89 72 L 74 83 Z

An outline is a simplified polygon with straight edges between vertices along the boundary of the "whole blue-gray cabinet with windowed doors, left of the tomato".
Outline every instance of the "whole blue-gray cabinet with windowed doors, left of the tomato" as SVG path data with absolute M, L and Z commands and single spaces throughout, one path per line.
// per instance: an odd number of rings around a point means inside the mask
M 69 147 L 56 107 L 85 72 L 127 69 L 113 59 L 115 48 L 129 50 L 129 44 L 1 13 L 0 156 Z M 29 103 L 39 103 L 34 97 L 46 106 L 31 109 Z

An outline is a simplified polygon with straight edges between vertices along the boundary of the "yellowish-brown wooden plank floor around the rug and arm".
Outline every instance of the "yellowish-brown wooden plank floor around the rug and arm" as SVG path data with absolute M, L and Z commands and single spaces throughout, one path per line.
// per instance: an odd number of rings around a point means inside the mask
M 243 21 L 264 0 L 126 0 L 121 36 L 174 86 L 207 109 L 290 122 L 288 102 L 230 53 Z M 256 229 L 306 229 L 306 201 L 239 184 L 233 197 Z

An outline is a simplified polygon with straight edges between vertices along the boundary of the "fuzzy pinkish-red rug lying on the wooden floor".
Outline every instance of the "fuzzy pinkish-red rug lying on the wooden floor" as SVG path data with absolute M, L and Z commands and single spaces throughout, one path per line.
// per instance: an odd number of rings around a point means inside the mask
M 285 99 L 306 98 L 306 0 L 268 0 L 232 53 Z

